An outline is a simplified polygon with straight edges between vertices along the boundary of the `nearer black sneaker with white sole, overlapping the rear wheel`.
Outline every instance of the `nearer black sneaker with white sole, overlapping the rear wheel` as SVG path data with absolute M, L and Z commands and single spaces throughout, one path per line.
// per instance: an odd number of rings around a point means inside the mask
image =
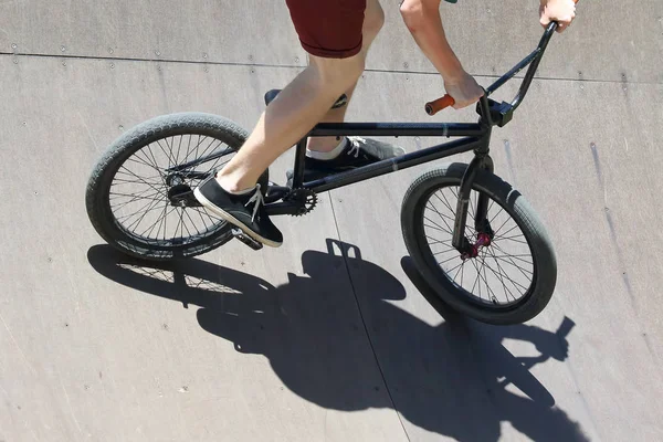
M 283 244 L 283 234 L 265 212 L 260 185 L 249 193 L 234 194 L 219 186 L 215 175 L 212 175 L 193 190 L 193 196 L 206 209 L 236 225 L 255 241 L 272 248 Z

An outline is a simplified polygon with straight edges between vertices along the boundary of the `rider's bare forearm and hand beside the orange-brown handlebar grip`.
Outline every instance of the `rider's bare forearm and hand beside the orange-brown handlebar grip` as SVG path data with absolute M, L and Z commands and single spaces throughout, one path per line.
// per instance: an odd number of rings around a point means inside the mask
M 465 72 L 451 49 L 442 27 L 440 0 L 404 0 L 401 15 L 424 55 L 444 78 L 444 87 L 461 108 L 475 103 L 483 90 Z

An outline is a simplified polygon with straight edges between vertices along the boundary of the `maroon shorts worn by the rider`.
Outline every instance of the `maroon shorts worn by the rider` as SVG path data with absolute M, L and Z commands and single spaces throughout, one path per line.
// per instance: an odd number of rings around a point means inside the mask
M 361 51 L 366 0 L 285 0 L 302 46 L 312 55 L 347 59 Z

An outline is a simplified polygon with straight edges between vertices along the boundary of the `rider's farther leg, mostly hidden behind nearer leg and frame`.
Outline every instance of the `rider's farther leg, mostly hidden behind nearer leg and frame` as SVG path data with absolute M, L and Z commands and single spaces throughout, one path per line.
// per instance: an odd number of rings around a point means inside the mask
M 380 2 L 378 0 L 367 0 L 366 11 L 364 14 L 364 25 L 361 28 L 361 33 L 364 35 L 361 53 L 365 57 L 368 54 L 371 43 L 380 32 L 380 29 L 382 29 L 383 24 L 385 11 L 380 7 Z M 345 95 L 348 97 L 347 104 L 343 107 L 328 110 L 320 123 L 343 123 L 356 87 L 357 82 L 355 82 L 350 87 L 348 87 L 347 91 L 345 91 Z M 311 150 L 326 152 L 336 148 L 338 143 L 339 139 L 337 137 L 312 137 L 308 138 L 308 148 Z

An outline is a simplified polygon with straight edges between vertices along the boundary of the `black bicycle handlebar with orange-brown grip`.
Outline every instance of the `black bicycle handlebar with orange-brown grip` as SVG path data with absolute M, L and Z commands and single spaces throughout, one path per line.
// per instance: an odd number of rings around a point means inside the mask
M 573 0 L 575 3 L 578 3 L 578 1 L 579 0 Z M 495 83 L 493 83 L 486 90 L 485 96 L 488 97 L 492 93 L 494 93 L 502 85 L 504 85 L 504 83 L 506 83 L 507 81 L 513 78 L 525 66 L 529 65 L 529 69 L 527 70 L 527 74 L 525 75 L 523 84 L 520 85 L 520 90 L 518 91 L 518 95 L 516 95 L 516 97 L 512 102 L 512 106 L 514 109 L 516 107 L 518 107 L 520 105 L 520 103 L 523 102 L 525 94 L 527 94 L 529 84 L 532 83 L 532 80 L 534 78 L 534 74 L 536 73 L 536 70 L 538 69 L 538 65 L 544 56 L 544 53 L 546 52 L 548 42 L 552 38 L 552 34 L 557 30 L 558 25 L 559 24 L 556 21 L 550 22 L 548 24 L 548 27 L 546 28 L 546 30 L 544 31 L 544 36 L 541 38 L 537 49 L 533 53 L 527 55 L 525 59 L 523 59 L 523 61 L 520 63 L 516 64 L 514 66 L 514 69 L 512 69 L 509 72 L 504 74 L 499 80 L 497 80 Z M 424 109 L 425 109 L 427 114 L 429 114 L 430 116 L 433 116 L 436 113 L 439 113 L 440 110 L 445 109 L 450 106 L 453 106 L 454 104 L 455 104 L 455 99 L 453 99 L 453 97 L 451 95 L 446 94 L 441 98 L 438 98 L 438 99 L 427 103 Z

